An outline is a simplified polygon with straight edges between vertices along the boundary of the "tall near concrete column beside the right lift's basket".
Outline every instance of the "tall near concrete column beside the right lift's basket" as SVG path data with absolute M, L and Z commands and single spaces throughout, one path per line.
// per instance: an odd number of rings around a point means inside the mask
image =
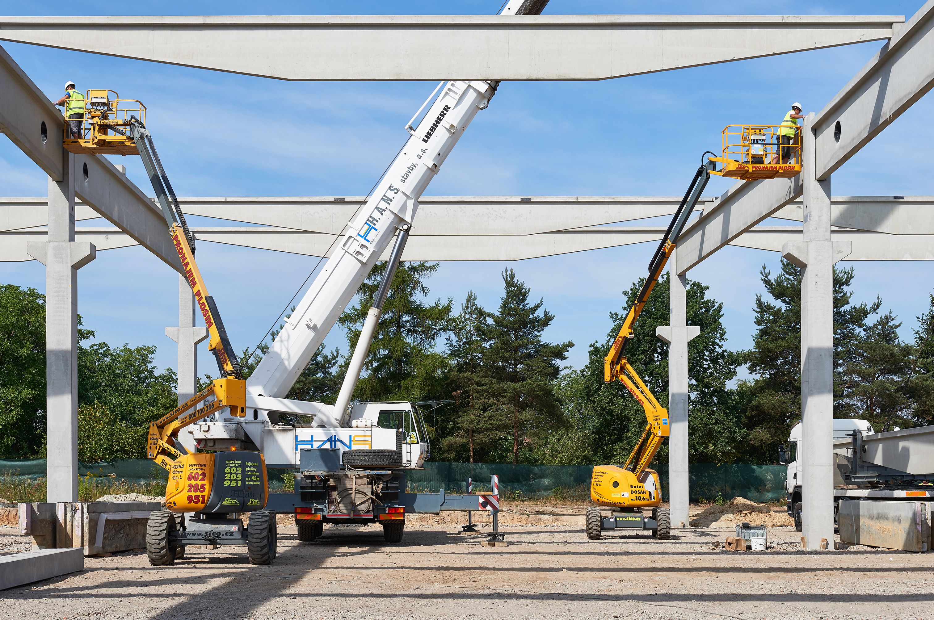
M 833 549 L 833 265 L 849 242 L 830 240 L 830 177 L 814 165 L 814 114 L 801 130 L 803 234 L 782 256 L 801 268 L 801 521 L 808 549 Z

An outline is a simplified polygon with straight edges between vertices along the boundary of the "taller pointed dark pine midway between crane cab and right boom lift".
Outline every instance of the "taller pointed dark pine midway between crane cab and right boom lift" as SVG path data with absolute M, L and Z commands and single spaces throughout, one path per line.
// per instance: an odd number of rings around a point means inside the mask
M 502 282 L 499 310 L 480 333 L 488 343 L 485 372 L 496 382 L 496 398 L 511 426 L 515 465 L 521 448 L 531 448 L 546 430 L 564 424 L 553 381 L 560 373 L 559 360 L 567 359 L 573 343 L 543 341 L 543 332 L 555 318 L 542 307 L 544 300 L 529 303 L 531 289 L 512 269 L 502 273 Z

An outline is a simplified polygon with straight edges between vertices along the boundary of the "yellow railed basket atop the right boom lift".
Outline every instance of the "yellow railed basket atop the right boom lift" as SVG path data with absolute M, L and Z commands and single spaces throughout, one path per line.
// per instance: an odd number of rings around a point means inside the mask
M 783 135 L 782 130 L 794 135 Z M 723 157 L 710 158 L 723 168 L 712 175 L 743 181 L 801 172 L 801 128 L 782 125 L 729 125 L 723 130 Z

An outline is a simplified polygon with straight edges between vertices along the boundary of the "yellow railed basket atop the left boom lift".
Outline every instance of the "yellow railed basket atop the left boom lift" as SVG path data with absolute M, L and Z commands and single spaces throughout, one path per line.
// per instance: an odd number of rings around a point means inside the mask
M 72 153 L 88 155 L 138 155 L 127 131 L 131 117 L 145 125 L 146 106 L 135 99 L 120 99 L 116 91 L 91 89 L 84 100 L 81 137 L 71 137 L 69 119 L 65 119 L 62 146 Z

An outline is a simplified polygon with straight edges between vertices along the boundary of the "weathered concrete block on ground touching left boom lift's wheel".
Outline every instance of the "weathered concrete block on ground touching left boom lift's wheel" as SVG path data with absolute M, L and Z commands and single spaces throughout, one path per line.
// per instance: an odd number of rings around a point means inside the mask
M 119 553 L 146 546 L 149 514 L 158 501 L 82 501 L 56 505 L 59 548 L 83 549 L 85 556 Z

